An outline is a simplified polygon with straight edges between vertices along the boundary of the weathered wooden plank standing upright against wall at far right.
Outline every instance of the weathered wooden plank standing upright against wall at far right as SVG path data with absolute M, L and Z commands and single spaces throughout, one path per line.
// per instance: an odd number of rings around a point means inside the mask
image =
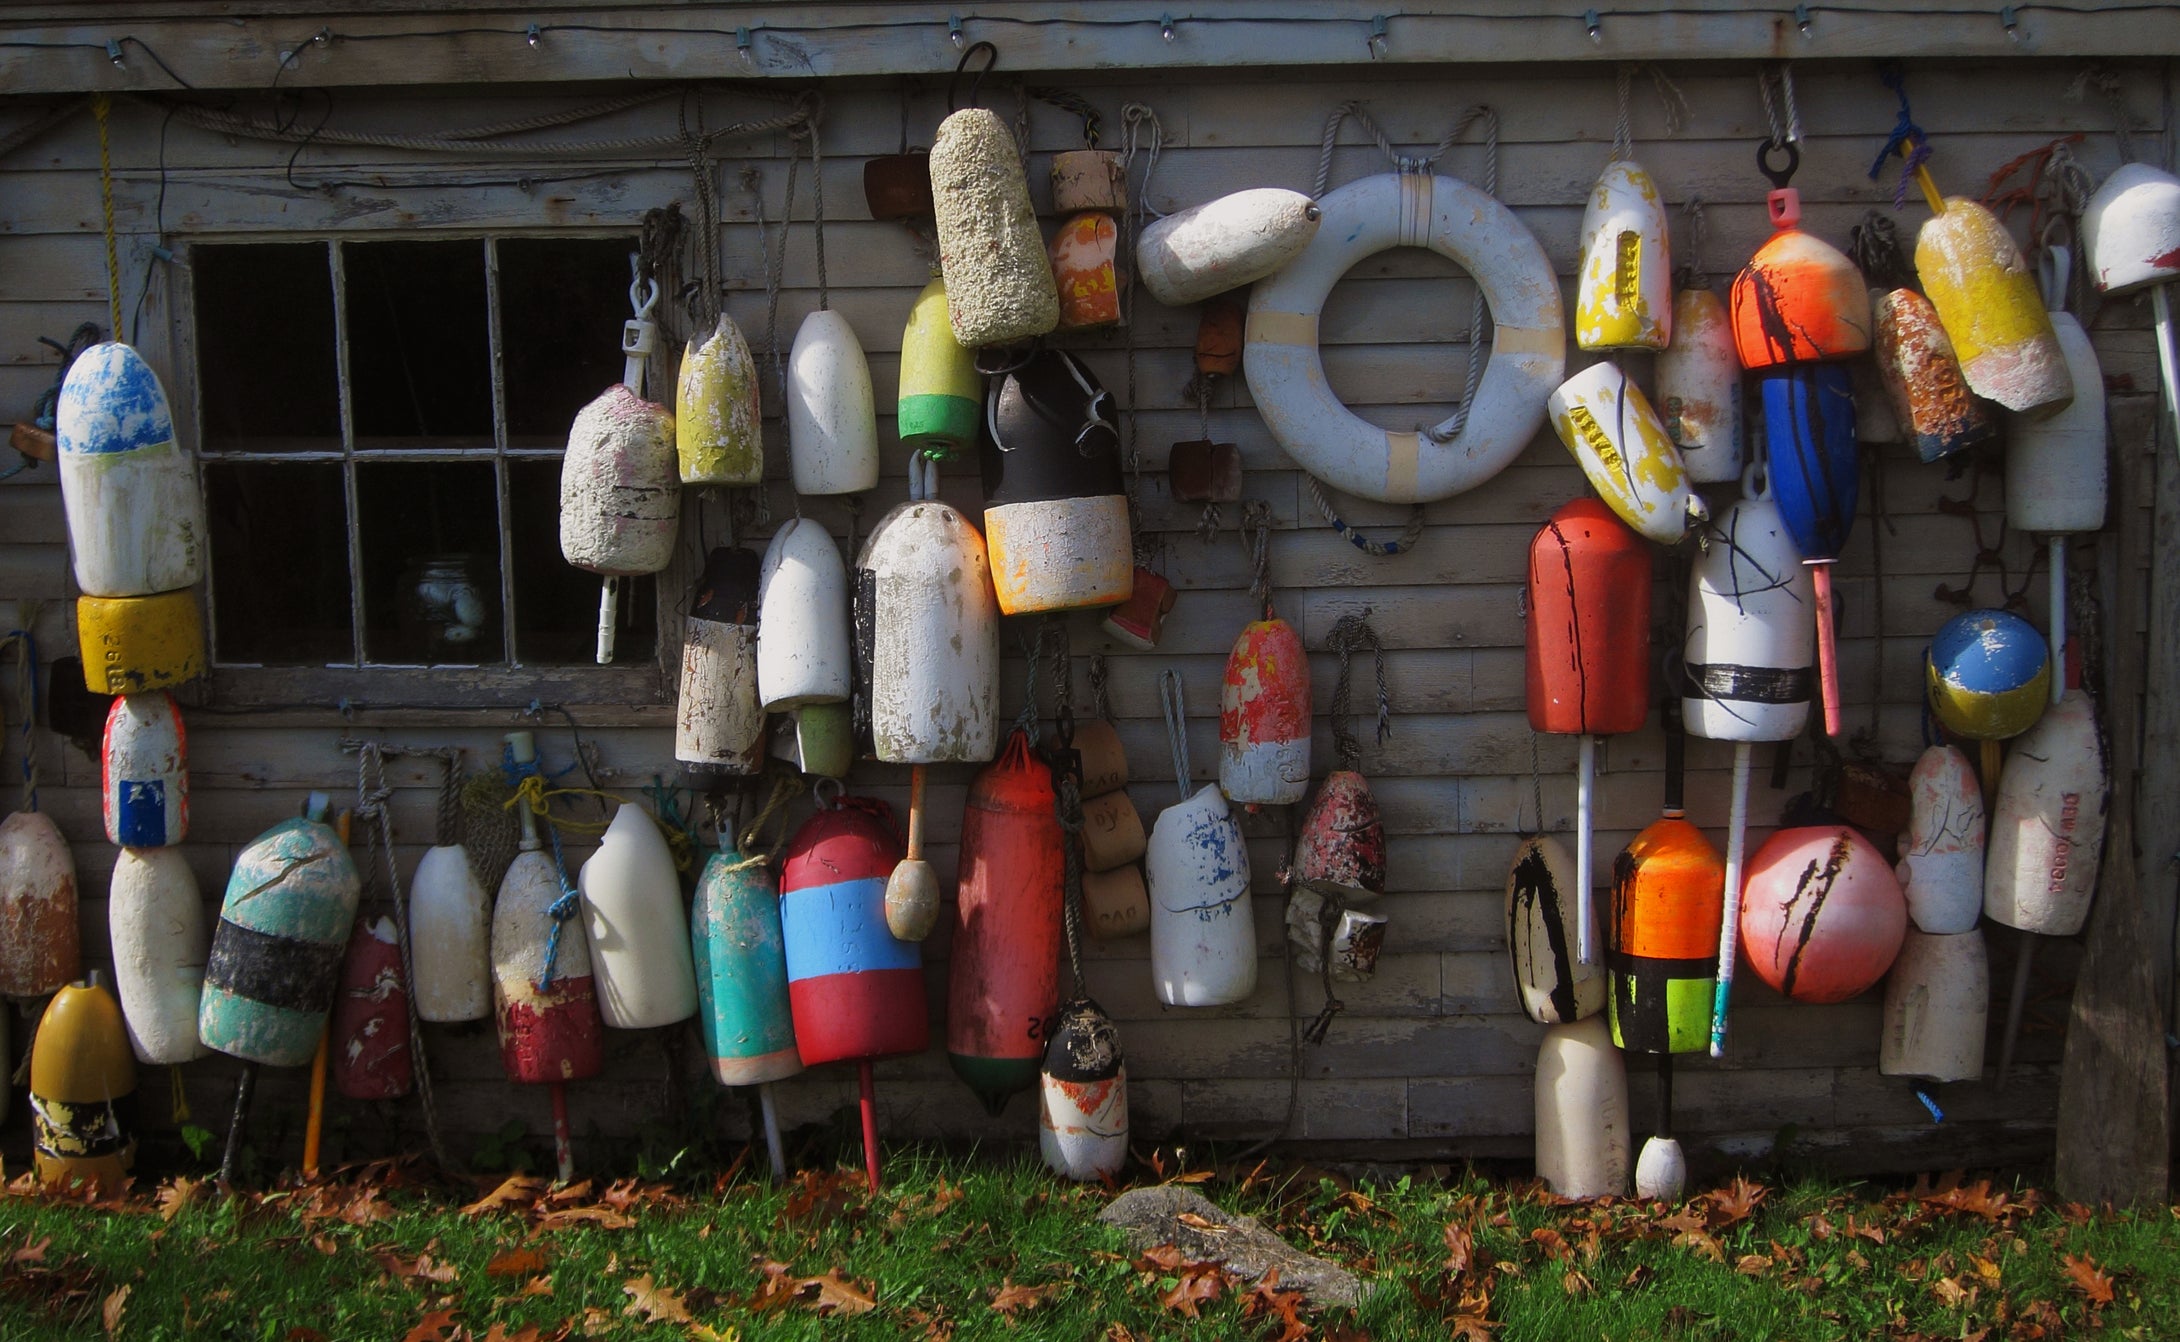
M 2165 1017 L 2173 952 L 2173 843 L 2180 839 L 2180 466 L 2158 447 L 2156 396 L 2112 396 L 2121 460 L 2112 505 L 2119 599 L 2104 612 L 2104 725 L 2112 791 L 2104 865 L 2058 1091 L 2058 1194 L 2075 1203 L 2165 1203 L 2171 1183 L 2171 1065 Z M 2128 481 L 2149 457 L 2154 508 Z M 2149 569 L 2139 564 L 2147 558 Z M 2147 638 L 2136 630 L 2147 619 Z M 2145 669 L 2156 669 L 2145 680 Z M 2136 776 L 2136 769 L 2141 771 Z M 2143 837 L 2136 852 L 2136 834 Z

